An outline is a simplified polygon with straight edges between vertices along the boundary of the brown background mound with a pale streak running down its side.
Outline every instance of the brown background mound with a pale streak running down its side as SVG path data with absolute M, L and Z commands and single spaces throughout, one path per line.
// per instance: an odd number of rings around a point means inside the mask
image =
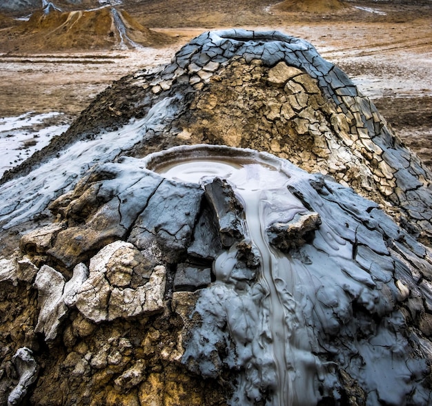
M 127 49 L 170 43 L 168 35 L 153 32 L 123 10 L 35 12 L 29 21 L 10 30 L 12 49 L 43 50 Z

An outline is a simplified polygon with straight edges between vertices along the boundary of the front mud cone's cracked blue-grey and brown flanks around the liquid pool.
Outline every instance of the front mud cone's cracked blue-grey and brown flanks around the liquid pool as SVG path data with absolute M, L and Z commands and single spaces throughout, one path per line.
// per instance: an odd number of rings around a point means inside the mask
M 183 151 L 174 148 L 173 155 L 186 155 L 186 147 L 179 148 Z M 229 148 L 221 148 L 226 159 Z M 251 152 L 238 151 L 251 160 L 247 155 Z M 43 332 L 47 343 L 56 339 L 59 347 L 51 360 L 45 360 L 38 351 L 44 369 L 30 404 L 52 404 L 50 398 L 58 395 L 50 383 L 52 371 L 57 369 L 61 370 L 57 380 L 64 405 L 77 399 L 87 403 L 90 396 L 93 404 L 143 405 L 149 399 L 155 405 L 181 404 L 177 398 L 172 400 L 173 392 L 190 405 L 226 405 L 230 388 L 225 376 L 235 376 L 239 382 L 234 388 L 239 402 L 235 403 L 234 397 L 234 404 L 256 405 L 245 396 L 251 393 L 255 400 L 275 404 L 268 400 L 275 394 L 275 375 L 273 349 L 267 340 L 275 330 L 265 317 L 270 306 L 268 287 L 256 271 L 257 261 L 267 262 L 267 258 L 261 244 L 257 245 L 261 252 L 257 258 L 251 258 L 253 251 L 244 249 L 246 240 L 257 242 L 252 223 L 247 229 L 238 228 L 245 216 L 246 222 L 250 220 L 247 207 L 259 201 L 268 231 L 273 233 L 273 225 L 282 224 L 275 222 L 282 220 L 282 215 L 291 232 L 286 227 L 277 232 L 285 234 L 282 239 L 297 238 L 297 244 L 289 247 L 273 238 L 268 241 L 290 253 L 283 264 L 272 264 L 277 282 L 272 300 L 279 298 L 286 308 L 282 329 L 290 343 L 288 359 L 298 363 L 295 371 L 302 371 L 302 378 L 290 373 L 296 388 L 291 389 L 293 405 L 316 405 L 322 394 L 340 405 L 375 405 L 379 400 L 390 405 L 403 404 L 404 400 L 407 405 L 429 404 L 430 390 L 424 385 L 429 371 L 424 354 L 430 354 L 432 309 L 428 251 L 398 229 L 377 204 L 355 195 L 352 189 L 321 175 L 309 175 L 276 157 L 252 154 L 252 163 L 265 162 L 266 170 L 280 164 L 284 175 L 276 177 L 276 182 L 268 173 L 261 178 L 259 182 L 269 188 L 266 199 L 243 196 L 246 209 L 227 184 L 215 180 L 217 184 L 209 184 L 202 191 L 198 185 L 169 177 L 161 181 L 157 173 L 146 169 L 149 158 L 131 157 L 117 164 L 95 166 L 72 193 L 52 204 L 61 221 L 26 235 L 21 249 L 27 259 L 5 261 L 11 271 L 2 275 L 3 284 L 28 282 L 36 276 L 41 311 L 35 332 Z M 166 164 L 170 157 L 159 153 L 159 161 Z M 256 168 L 251 170 L 250 175 L 256 175 Z M 281 179 L 282 184 L 289 180 L 288 187 L 275 187 Z M 260 195 L 262 189 L 255 192 Z M 161 201 L 165 202 L 163 213 L 157 210 Z M 215 217 L 205 215 L 206 211 L 215 212 Z M 185 224 L 183 230 L 172 221 L 172 213 Z M 198 217 L 200 220 L 195 220 Z M 194 227 L 208 222 L 215 226 L 213 238 L 224 245 L 218 255 L 206 250 L 203 234 Z M 92 233 L 98 226 L 107 233 Z M 225 238 L 227 231 L 232 231 L 233 238 Z M 314 235 L 304 239 L 311 231 Z M 177 235 L 179 232 L 183 235 Z M 120 240 L 109 243 L 112 236 Z M 197 244 L 193 250 L 192 241 Z M 94 247 L 104 245 L 93 255 Z M 207 258 L 197 255 L 199 251 Z M 249 253 L 249 258 L 237 254 L 230 258 L 236 251 Z M 225 253 L 231 261 L 226 260 Z M 77 258 L 90 264 L 88 279 L 86 265 L 75 265 Z M 197 262 L 209 266 L 214 260 L 215 284 L 210 284 L 210 279 L 201 282 L 202 289 L 173 284 L 173 273 L 177 278 L 179 269 L 199 269 Z M 45 263 L 37 271 L 32 262 Z M 161 266 L 161 262 L 168 266 Z M 23 272 L 23 264 L 27 264 L 28 273 Z M 62 273 L 72 267 L 73 276 L 65 284 Z M 257 318 L 262 318 L 262 324 Z M 274 320 L 277 325 L 284 324 Z M 30 341 L 31 327 L 27 328 L 28 336 L 19 340 L 36 347 Z M 61 331 L 63 334 L 57 334 Z M 244 365 L 248 368 L 243 369 Z M 337 365 L 338 374 L 332 365 Z M 226 369 L 231 369 L 231 375 Z M 387 373 L 378 379 L 377 370 Z M 159 376 L 161 371 L 164 378 Z M 320 383 L 315 376 L 318 371 Z M 188 372 L 205 379 L 209 394 L 199 390 Z M 308 385 L 302 387 L 306 375 L 306 381 L 320 385 L 320 395 Z M 174 390 L 168 385 L 172 379 L 181 379 Z M 150 390 L 155 385 L 164 400 L 156 396 L 157 390 Z M 184 394 L 187 387 L 194 388 L 193 395 Z M 351 396 L 355 400 L 346 402 Z

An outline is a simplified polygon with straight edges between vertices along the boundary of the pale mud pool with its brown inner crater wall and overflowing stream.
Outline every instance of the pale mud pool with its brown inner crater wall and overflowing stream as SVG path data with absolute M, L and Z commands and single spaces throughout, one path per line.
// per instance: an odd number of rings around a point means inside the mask
M 230 309 L 227 309 L 228 327 L 237 344 L 238 358 L 243 358 L 246 369 L 251 358 L 267 363 L 259 371 L 262 376 L 255 377 L 255 380 L 262 380 L 270 387 L 268 396 L 271 400 L 268 399 L 270 402 L 266 404 L 316 405 L 319 396 L 315 382 L 320 361 L 312 354 L 308 331 L 301 321 L 302 309 L 294 298 L 294 270 L 286 255 L 271 246 L 266 234 L 275 220 L 290 222 L 296 215 L 309 213 L 308 209 L 288 191 L 286 184 L 289 175 L 281 170 L 277 161 L 266 162 L 265 157 L 264 160 L 262 157 L 259 159 L 247 150 L 242 150 L 240 155 L 229 156 L 233 150 L 220 147 L 198 146 L 183 152 L 186 154 L 168 153 L 164 156 L 162 153 L 163 158 L 153 160 L 149 166 L 177 182 L 205 185 L 215 178 L 228 181 L 244 207 L 247 240 L 259 256 L 260 267 L 255 282 L 246 289 L 238 285 L 234 287 L 240 297 L 255 295 L 259 296 L 259 300 L 251 300 L 248 306 L 238 308 L 233 301 L 233 306 L 228 305 Z M 207 153 L 209 155 L 204 156 Z M 233 286 L 236 253 L 232 247 L 215 259 L 215 286 Z M 242 355 L 242 342 L 251 341 L 255 341 L 251 344 L 252 354 Z M 254 379 L 253 373 L 247 375 L 240 378 L 232 404 L 246 405 L 248 400 L 260 400 L 260 395 L 253 394 L 253 385 L 248 382 Z

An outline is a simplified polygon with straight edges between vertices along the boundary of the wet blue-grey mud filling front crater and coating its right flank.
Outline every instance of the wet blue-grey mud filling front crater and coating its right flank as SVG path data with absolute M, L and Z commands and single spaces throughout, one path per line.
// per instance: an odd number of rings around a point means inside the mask
M 367 404 L 429 403 L 420 378 L 427 363 L 415 352 L 430 344 L 406 338 L 397 305 L 413 284 L 400 248 L 413 244 L 420 258 L 424 248 L 350 189 L 271 155 L 231 154 L 198 146 L 150 158 L 164 177 L 202 184 L 221 233 L 237 229 L 213 262 L 215 282 L 199 293 L 190 317 L 201 323 L 182 361 L 203 376 L 215 376 L 221 365 L 237 369 L 231 405 L 316 405 L 326 396 L 344 403 L 342 371 Z M 217 199 L 236 200 L 239 213 L 211 203 L 213 182 L 232 189 L 219 189 Z M 426 259 L 425 269 L 430 264 Z

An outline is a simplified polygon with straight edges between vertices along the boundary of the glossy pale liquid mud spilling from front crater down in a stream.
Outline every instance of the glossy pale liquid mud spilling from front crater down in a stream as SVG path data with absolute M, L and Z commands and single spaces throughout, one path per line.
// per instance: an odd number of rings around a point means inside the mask
M 286 255 L 272 247 L 266 235 L 266 229 L 275 220 L 289 222 L 295 215 L 308 211 L 286 188 L 288 175 L 271 165 L 224 157 L 206 160 L 192 157 L 178 164 L 161 166 L 157 172 L 179 182 L 205 184 L 215 177 L 228 180 L 244 206 L 246 233 L 259 254 L 260 271 L 255 284 L 260 285 L 259 289 L 265 294 L 263 308 L 256 310 L 267 319 L 267 327 L 256 333 L 255 337 L 260 346 L 268 347 L 273 353 L 273 366 L 264 373 L 270 374 L 266 381 L 273 380 L 271 405 L 315 405 L 317 398 L 313 382 L 317 375 L 316 360 L 311 353 L 306 327 L 300 322 L 298 312 L 301 309 L 297 308 L 294 299 L 296 278 Z M 235 254 L 236 251 L 230 249 L 215 260 L 213 272 L 216 283 L 229 284 L 230 275 L 237 265 Z M 233 335 L 236 334 L 234 330 L 238 329 L 239 317 L 243 316 L 235 311 L 228 316 Z M 246 324 L 248 322 L 246 317 Z M 259 326 L 249 325 L 246 329 L 258 331 Z M 266 343 L 263 337 L 266 337 Z M 259 354 L 253 356 L 258 357 Z

